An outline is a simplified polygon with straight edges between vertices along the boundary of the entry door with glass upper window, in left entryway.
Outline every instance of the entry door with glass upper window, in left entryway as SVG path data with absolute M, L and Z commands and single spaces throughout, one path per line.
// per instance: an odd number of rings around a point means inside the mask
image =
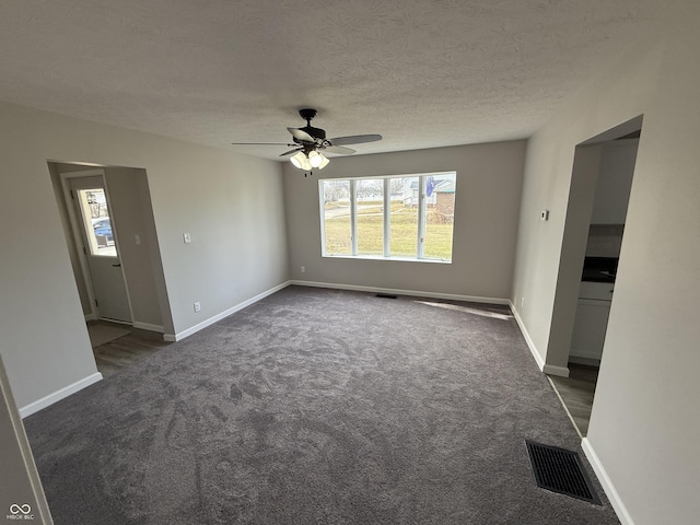
M 131 323 L 129 298 L 104 179 L 101 176 L 71 178 L 70 189 L 97 315 L 101 319 Z

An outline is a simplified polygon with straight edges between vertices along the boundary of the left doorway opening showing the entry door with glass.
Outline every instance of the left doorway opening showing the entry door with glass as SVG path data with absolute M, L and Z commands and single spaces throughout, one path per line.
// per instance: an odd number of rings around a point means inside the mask
M 145 170 L 61 160 L 47 165 L 95 355 L 135 332 L 172 334 Z M 119 366 L 124 358 L 124 351 L 108 357 Z M 101 373 L 106 360 L 96 358 Z

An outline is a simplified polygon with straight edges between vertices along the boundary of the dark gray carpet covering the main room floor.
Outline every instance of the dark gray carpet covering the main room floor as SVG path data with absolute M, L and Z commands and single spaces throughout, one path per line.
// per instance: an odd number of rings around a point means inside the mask
M 619 523 L 536 487 L 580 440 L 509 313 L 287 288 L 27 418 L 54 520 Z

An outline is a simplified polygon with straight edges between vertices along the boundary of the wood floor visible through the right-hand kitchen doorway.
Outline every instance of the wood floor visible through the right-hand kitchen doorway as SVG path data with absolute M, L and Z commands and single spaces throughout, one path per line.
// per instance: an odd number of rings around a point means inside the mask
M 550 375 L 549 378 L 583 438 L 588 433 L 598 368 L 569 363 L 569 377 Z

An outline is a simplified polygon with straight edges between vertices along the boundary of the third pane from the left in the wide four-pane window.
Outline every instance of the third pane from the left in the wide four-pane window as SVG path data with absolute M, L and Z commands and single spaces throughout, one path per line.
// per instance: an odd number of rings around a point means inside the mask
M 389 179 L 389 255 L 416 257 L 418 249 L 418 177 Z

